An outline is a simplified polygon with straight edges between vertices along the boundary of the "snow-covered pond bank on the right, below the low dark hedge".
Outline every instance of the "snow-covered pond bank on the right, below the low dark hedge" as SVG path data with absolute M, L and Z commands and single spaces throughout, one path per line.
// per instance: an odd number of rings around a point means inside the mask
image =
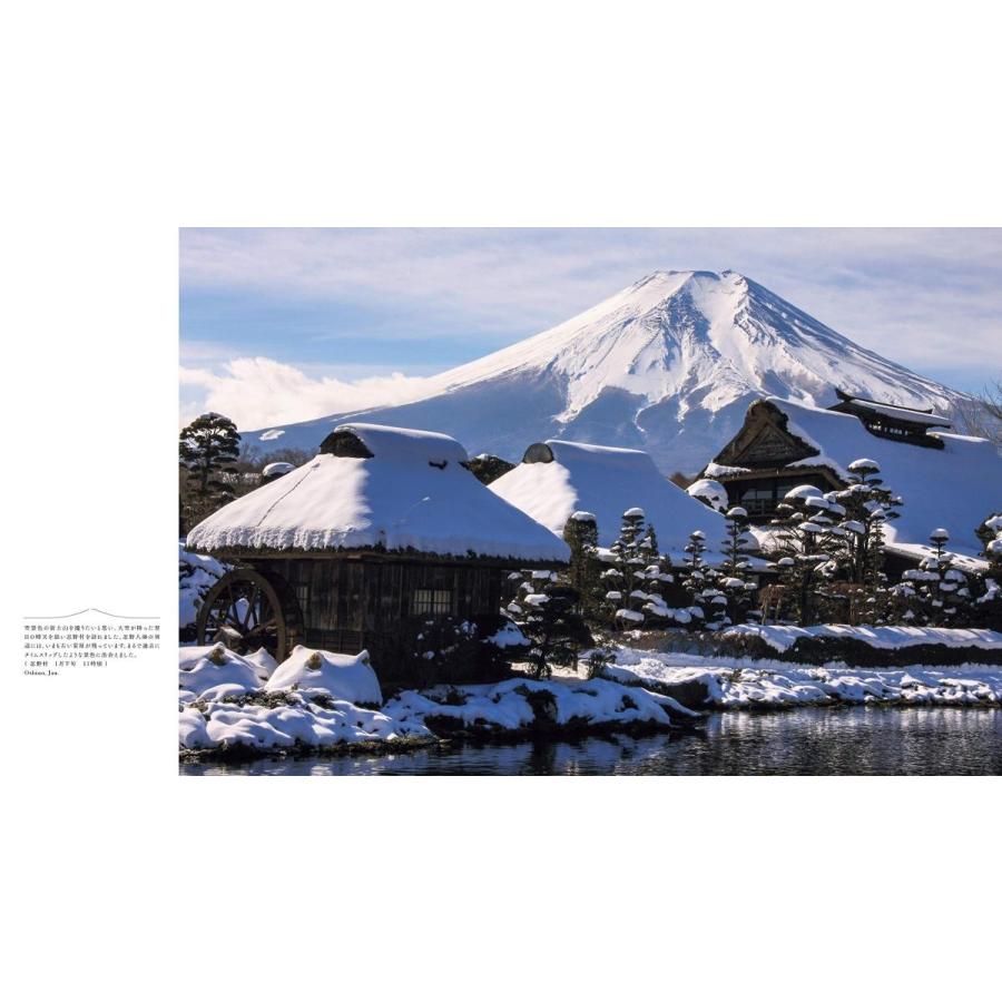
M 608 678 L 622 682 L 704 691 L 707 708 L 782 708 L 804 705 L 902 704 L 931 706 L 1002 705 L 1002 667 L 823 668 L 778 660 L 704 657 L 619 648 Z

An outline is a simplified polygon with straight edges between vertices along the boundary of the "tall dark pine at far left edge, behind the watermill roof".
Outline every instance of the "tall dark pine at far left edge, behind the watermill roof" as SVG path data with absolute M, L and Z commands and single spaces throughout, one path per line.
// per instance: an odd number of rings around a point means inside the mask
M 233 500 L 239 451 L 236 425 L 222 414 L 203 414 L 181 431 L 178 454 L 186 473 L 181 491 L 184 521 L 190 524 L 206 518 Z

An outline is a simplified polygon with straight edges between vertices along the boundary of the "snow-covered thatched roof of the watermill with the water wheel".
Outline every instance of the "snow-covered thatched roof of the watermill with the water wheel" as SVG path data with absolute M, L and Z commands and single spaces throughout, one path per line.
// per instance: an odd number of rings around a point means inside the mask
M 454 557 L 562 561 L 568 548 L 491 493 L 435 432 L 343 424 L 317 456 L 209 515 L 188 547 L 331 550 L 382 547 Z

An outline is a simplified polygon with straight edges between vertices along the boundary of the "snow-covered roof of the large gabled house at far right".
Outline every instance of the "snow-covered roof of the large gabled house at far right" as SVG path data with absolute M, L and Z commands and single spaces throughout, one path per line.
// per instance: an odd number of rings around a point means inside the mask
M 827 466 L 845 480 L 857 459 L 880 465 L 884 484 L 904 501 L 900 518 L 887 523 L 888 541 L 926 543 L 930 532 L 942 527 L 951 550 L 969 556 L 981 550 L 974 530 L 1002 504 L 1002 456 L 991 442 L 930 432 L 943 449 L 927 449 L 873 435 L 852 414 L 775 396 L 766 401 L 786 415 L 790 434 L 818 451 L 787 469 Z

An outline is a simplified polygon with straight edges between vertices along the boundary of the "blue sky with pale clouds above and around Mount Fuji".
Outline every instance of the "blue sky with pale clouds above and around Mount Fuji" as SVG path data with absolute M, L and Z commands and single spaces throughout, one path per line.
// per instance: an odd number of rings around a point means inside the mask
M 741 272 L 961 390 L 1002 374 L 1002 229 L 184 229 L 181 416 L 406 399 L 656 268 Z

